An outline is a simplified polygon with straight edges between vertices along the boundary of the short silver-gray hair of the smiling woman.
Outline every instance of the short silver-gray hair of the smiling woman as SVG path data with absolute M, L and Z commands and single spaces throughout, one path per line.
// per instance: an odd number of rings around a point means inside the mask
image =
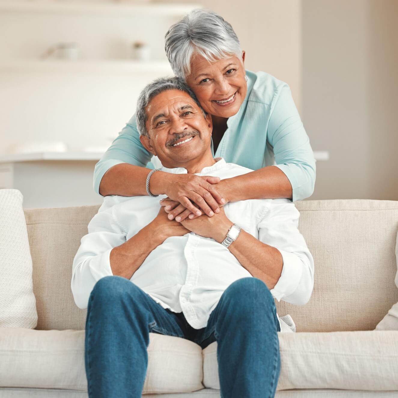
M 176 76 L 185 80 L 191 73 L 194 53 L 209 62 L 242 57 L 238 36 L 232 26 L 212 10 L 196 9 L 170 27 L 165 35 L 167 58 Z

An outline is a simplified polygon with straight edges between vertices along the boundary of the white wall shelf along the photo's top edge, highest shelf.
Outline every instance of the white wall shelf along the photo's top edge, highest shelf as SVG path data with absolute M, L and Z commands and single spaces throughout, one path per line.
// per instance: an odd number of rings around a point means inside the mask
M 150 14 L 158 16 L 183 16 L 199 4 L 164 4 L 150 1 L 78 3 L 42 0 L 0 0 L 0 12 L 36 12 L 44 14 L 90 14 L 106 16 L 131 16 Z

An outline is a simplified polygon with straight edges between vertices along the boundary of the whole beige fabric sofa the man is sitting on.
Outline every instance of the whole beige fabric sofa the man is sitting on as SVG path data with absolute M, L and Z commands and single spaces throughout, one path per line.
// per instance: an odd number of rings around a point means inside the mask
M 374 330 L 398 301 L 398 201 L 295 205 L 314 256 L 314 291 L 304 306 L 275 300 L 278 314 L 290 314 L 297 327 L 278 332 L 275 396 L 398 397 L 398 331 Z M 25 209 L 38 324 L 36 330 L 0 328 L 1 398 L 87 397 L 86 310 L 75 305 L 70 279 L 80 238 L 98 208 Z M 191 341 L 151 333 L 144 396 L 220 397 L 216 350 L 217 342 L 202 351 Z

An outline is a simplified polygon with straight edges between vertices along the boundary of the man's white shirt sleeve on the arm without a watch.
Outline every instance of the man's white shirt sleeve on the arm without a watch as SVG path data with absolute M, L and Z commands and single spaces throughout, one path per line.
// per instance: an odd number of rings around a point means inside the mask
M 101 278 L 113 275 L 109 255 L 111 250 L 126 242 L 126 233 L 115 221 L 113 196 L 105 197 L 104 204 L 88 224 L 88 234 L 80 241 L 73 259 L 70 287 L 76 305 L 85 309 L 94 285 Z M 107 202 L 107 203 L 105 203 Z

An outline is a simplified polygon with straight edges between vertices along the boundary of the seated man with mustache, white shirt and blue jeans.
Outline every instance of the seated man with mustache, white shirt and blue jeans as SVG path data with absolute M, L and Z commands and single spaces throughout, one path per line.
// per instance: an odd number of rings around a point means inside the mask
M 140 397 L 152 332 L 202 348 L 217 341 L 222 397 L 274 396 L 281 331 L 274 298 L 304 305 L 314 284 L 299 212 L 289 199 L 250 199 L 213 217 L 170 220 L 151 178 L 252 170 L 213 158 L 211 117 L 178 78 L 144 88 L 137 126 L 162 168 L 148 173 L 148 195 L 104 198 L 73 262 L 74 300 L 88 308 L 88 395 Z

